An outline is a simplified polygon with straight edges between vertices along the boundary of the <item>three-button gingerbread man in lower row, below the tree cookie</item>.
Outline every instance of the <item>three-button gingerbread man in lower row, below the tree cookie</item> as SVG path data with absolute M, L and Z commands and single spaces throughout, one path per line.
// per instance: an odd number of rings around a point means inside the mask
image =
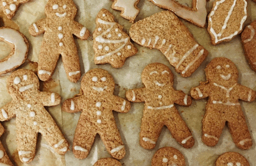
M 68 113 L 82 112 L 76 128 L 73 153 L 86 158 L 99 134 L 112 157 L 122 159 L 125 149 L 112 110 L 127 113 L 130 102 L 114 96 L 115 82 L 103 69 L 89 70 L 81 81 L 83 95 L 66 100 L 62 109 Z

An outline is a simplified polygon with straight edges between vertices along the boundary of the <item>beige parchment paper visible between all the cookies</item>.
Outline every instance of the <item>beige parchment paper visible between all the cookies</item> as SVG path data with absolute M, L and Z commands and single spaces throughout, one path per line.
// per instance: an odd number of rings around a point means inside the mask
M 90 31 L 90 35 L 92 35 L 95 29 L 95 18 L 101 8 L 105 8 L 112 12 L 115 16 L 115 21 L 124 26 L 124 31 L 126 33 L 129 32 L 131 23 L 120 17 L 120 11 L 111 9 L 112 1 L 74 0 L 74 2 L 78 8 L 78 14 L 75 20 L 83 24 Z M 191 7 L 192 1 L 179 0 L 178 2 Z M 33 37 L 28 33 L 28 28 L 35 21 L 45 17 L 44 6 L 46 3 L 47 0 L 31 0 L 30 2 L 21 5 L 16 15 L 12 19 L 17 25 L 19 25 L 20 31 L 27 37 L 29 41 L 30 50 L 28 59 L 32 62 L 38 61 L 38 54 L 40 53 L 43 34 Z M 145 17 L 162 10 L 147 0 L 140 0 L 138 7 L 140 8 L 140 13 L 138 14 L 135 21 L 144 19 Z M 208 12 L 211 10 L 211 7 L 212 2 L 207 3 Z M 248 0 L 248 18 L 245 25 L 248 25 L 255 19 L 256 3 Z M 249 68 L 245 60 L 240 35 L 236 36 L 230 42 L 225 42 L 218 44 L 217 46 L 213 46 L 210 43 L 210 37 L 206 28 L 199 28 L 184 20 L 182 20 L 182 22 L 189 28 L 190 32 L 194 35 L 195 40 L 209 51 L 209 56 L 207 57 L 206 61 L 200 65 L 200 67 L 192 74 L 191 77 L 182 78 L 179 74 L 177 74 L 174 68 L 168 63 L 160 51 L 144 48 L 137 44 L 135 44 L 135 46 L 138 48 L 138 53 L 136 56 L 128 58 L 122 68 L 115 69 L 108 64 L 95 65 L 92 36 L 90 36 L 87 41 L 81 41 L 75 38 L 76 45 L 79 50 L 82 75 L 89 69 L 106 69 L 109 73 L 111 73 L 116 82 L 115 95 L 124 98 L 126 89 L 139 88 L 143 86 L 140 79 L 143 68 L 150 63 L 160 62 L 169 66 L 173 71 L 175 76 L 174 87 L 177 90 L 183 90 L 188 94 L 191 87 L 197 86 L 199 81 L 206 80 L 204 68 L 214 57 L 226 57 L 232 60 L 239 69 L 239 83 L 256 90 L 256 73 Z M 3 42 L 0 42 L 0 47 L 0 59 L 2 59 L 3 57 L 7 56 L 10 49 L 6 44 L 3 44 Z M 27 61 L 24 65 L 22 65 L 21 68 L 29 68 L 36 71 L 37 65 L 36 63 L 32 62 Z M 0 76 L 0 107 L 11 101 L 11 97 L 7 93 L 6 89 L 6 79 L 9 75 L 10 73 Z M 62 97 L 62 102 L 78 94 L 79 89 L 80 81 L 78 83 L 71 83 L 67 80 L 61 59 L 58 62 L 52 80 L 46 83 L 41 82 L 41 90 L 54 91 L 59 93 Z M 126 114 L 114 112 L 115 120 L 126 148 L 126 155 L 122 160 L 120 160 L 121 163 L 126 166 L 151 165 L 151 158 L 158 149 L 164 146 L 173 146 L 182 154 L 184 154 L 186 158 L 186 164 L 190 166 L 214 165 L 217 157 L 228 151 L 239 152 L 248 159 L 250 165 L 255 165 L 256 103 L 240 102 L 253 139 L 253 146 L 251 149 L 246 151 L 240 150 L 234 145 L 227 127 L 224 128 L 220 141 L 216 146 L 208 147 L 202 142 L 202 118 L 205 114 L 206 103 L 207 100 L 205 99 L 197 101 L 194 100 L 192 105 L 189 107 L 176 105 L 180 115 L 186 121 L 190 130 L 193 132 L 192 134 L 195 138 L 195 145 L 191 149 L 185 149 L 179 145 L 172 138 L 167 128 L 164 127 L 156 143 L 155 149 L 145 150 L 139 145 L 140 124 L 142 118 L 142 109 L 144 106 L 143 103 L 132 103 L 130 112 Z M 39 135 L 38 144 L 36 147 L 36 156 L 34 160 L 28 164 L 23 164 L 19 160 L 19 156 L 16 150 L 16 127 L 15 118 L 13 118 L 10 121 L 2 122 L 6 132 L 1 137 L 1 141 L 3 142 L 8 155 L 15 165 L 93 165 L 100 158 L 111 157 L 107 153 L 100 137 L 97 135 L 88 157 L 83 160 L 75 158 L 71 149 L 75 128 L 77 126 L 80 113 L 69 114 L 62 112 L 61 105 L 47 107 L 46 109 L 49 111 L 54 120 L 56 120 L 65 138 L 68 140 L 70 144 L 70 151 L 67 152 L 65 156 L 56 154 L 45 141 L 45 139 Z

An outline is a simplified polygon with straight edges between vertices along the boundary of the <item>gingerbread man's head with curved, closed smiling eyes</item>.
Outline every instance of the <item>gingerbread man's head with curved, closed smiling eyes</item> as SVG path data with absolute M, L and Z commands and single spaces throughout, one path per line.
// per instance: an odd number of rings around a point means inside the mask
M 152 63 L 144 68 L 141 79 L 146 88 L 173 86 L 173 73 L 161 63 Z

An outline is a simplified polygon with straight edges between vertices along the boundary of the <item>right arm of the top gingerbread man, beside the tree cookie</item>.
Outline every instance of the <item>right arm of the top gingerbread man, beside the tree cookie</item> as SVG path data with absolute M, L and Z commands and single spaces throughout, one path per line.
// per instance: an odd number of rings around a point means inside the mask
M 80 23 L 74 21 L 72 33 L 75 34 L 79 39 L 86 40 L 90 35 L 90 32 Z

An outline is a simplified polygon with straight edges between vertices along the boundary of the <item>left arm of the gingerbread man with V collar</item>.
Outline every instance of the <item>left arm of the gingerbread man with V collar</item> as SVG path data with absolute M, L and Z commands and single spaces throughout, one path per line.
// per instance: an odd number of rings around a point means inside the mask
M 191 88 L 190 90 L 191 97 L 194 99 L 207 98 L 209 96 L 208 88 L 209 88 L 208 84 L 202 84 L 197 87 Z

